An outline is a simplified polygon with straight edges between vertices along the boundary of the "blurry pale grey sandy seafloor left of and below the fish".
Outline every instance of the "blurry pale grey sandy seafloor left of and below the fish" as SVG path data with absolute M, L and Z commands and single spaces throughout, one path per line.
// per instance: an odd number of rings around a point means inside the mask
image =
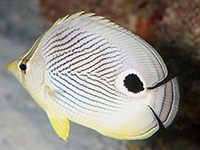
M 7 64 L 41 35 L 45 20 L 38 0 L 0 0 L 0 150 L 124 150 L 127 141 L 107 138 L 71 123 L 68 142 L 54 132 Z

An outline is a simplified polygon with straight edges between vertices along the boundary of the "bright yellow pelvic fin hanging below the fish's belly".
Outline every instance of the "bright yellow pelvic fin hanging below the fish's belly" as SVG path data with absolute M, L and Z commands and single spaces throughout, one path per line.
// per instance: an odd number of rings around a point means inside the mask
M 69 135 L 69 129 L 70 129 L 68 119 L 60 119 L 48 113 L 47 113 L 47 116 L 54 130 L 58 134 L 58 136 L 63 138 L 65 141 L 67 141 L 67 137 Z

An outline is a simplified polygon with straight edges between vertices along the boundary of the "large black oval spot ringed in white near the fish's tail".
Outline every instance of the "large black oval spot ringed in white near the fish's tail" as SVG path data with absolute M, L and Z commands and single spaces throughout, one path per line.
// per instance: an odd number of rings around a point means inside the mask
M 138 93 L 144 90 L 143 83 L 136 74 L 129 74 L 124 79 L 124 86 L 128 91 Z

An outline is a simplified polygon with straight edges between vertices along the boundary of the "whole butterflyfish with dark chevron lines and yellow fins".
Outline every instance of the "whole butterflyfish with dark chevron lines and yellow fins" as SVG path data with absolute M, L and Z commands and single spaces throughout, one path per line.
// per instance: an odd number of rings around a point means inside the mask
M 94 13 L 58 19 L 7 68 L 65 141 L 70 121 L 114 139 L 146 139 L 178 111 L 177 77 L 164 82 L 158 52 Z

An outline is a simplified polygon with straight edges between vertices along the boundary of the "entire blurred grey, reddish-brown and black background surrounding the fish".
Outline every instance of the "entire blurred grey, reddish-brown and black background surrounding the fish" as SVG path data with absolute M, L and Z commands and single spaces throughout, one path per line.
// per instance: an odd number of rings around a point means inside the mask
M 95 12 L 139 35 L 178 77 L 180 106 L 167 130 L 141 141 L 120 141 L 71 123 L 68 142 L 6 69 L 58 18 Z M 0 0 L 1 150 L 199 150 L 200 0 Z

